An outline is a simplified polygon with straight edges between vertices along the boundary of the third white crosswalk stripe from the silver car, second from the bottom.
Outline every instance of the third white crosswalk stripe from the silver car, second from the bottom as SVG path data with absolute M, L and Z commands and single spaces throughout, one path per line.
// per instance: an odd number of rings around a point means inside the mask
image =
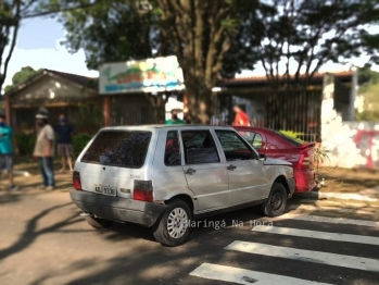
M 225 248 L 247 253 L 254 253 L 275 258 L 287 258 L 306 262 L 321 263 L 341 268 L 358 269 L 379 272 L 379 260 L 343 256 L 329 252 L 278 247 L 260 243 L 248 243 L 236 240 Z

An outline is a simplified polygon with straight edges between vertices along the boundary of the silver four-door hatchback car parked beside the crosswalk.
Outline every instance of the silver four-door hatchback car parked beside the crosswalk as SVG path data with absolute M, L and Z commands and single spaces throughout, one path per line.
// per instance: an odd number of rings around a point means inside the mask
M 152 227 L 162 245 L 184 244 L 191 221 L 262 203 L 280 215 L 294 191 L 292 165 L 261 156 L 232 127 L 105 127 L 75 162 L 70 193 L 87 222 Z

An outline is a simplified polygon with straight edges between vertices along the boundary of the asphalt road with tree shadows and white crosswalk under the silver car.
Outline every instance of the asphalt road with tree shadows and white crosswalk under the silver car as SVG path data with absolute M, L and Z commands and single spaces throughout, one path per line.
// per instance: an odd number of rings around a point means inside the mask
M 0 191 L 0 284 L 379 284 L 377 222 L 265 219 L 250 208 L 203 220 L 168 248 L 149 228 L 97 231 L 79 213 L 67 191 Z

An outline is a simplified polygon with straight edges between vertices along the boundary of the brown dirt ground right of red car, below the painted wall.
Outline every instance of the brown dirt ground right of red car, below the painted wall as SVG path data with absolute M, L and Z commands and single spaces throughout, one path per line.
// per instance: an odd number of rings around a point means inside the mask
M 316 178 L 318 182 L 325 179 L 325 186 L 317 187 L 323 191 L 359 193 L 372 188 L 379 191 L 379 170 L 324 166 L 318 169 Z

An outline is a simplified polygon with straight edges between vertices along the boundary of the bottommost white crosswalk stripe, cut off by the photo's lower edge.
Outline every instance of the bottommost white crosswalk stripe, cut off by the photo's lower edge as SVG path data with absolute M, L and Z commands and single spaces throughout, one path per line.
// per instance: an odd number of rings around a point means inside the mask
M 327 285 L 326 283 L 300 280 L 294 277 L 288 277 L 285 275 L 268 274 L 257 271 L 212 263 L 201 264 L 199 268 L 193 270 L 190 273 L 190 275 L 207 280 L 217 280 L 245 285 Z

